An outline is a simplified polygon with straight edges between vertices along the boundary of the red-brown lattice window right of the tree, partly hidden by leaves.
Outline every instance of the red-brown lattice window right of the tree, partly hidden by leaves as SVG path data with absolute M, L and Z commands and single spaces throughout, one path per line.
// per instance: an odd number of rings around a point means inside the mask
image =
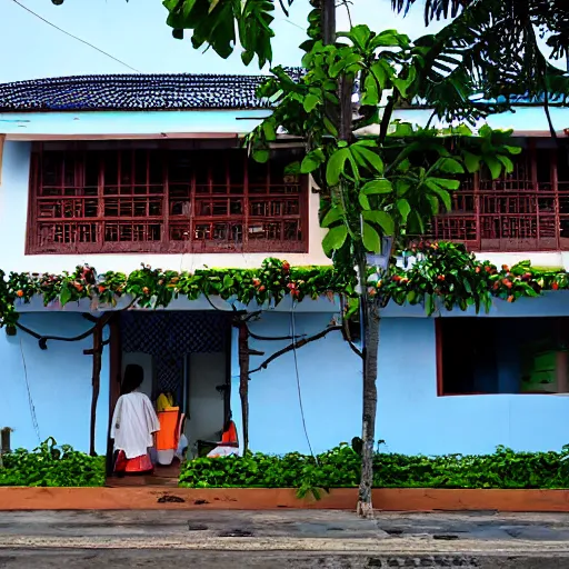
M 487 171 L 462 180 L 429 237 L 473 251 L 569 250 L 566 151 L 532 146 L 515 158 L 515 171 L 499 180 Z

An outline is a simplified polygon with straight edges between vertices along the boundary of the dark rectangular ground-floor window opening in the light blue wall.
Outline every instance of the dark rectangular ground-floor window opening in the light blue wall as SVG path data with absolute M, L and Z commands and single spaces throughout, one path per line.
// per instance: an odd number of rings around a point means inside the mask
M 437 320 L 439 396 L 569 392 L 569 318 Z

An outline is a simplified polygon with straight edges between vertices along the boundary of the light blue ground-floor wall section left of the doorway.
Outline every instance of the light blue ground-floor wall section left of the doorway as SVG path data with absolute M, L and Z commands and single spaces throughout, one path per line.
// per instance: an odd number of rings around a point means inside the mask
M 72 337 L 92 325 L 81 315 L 22 315 L 21 323 L 42 335 Z M 12 448 L 32 449 L 53 437 L 59 443 L 89 450 L 92 338 L 77 342 L 49 341 L 40 350 L 38 340 L 18 331 L 9 337 L 0 330 L 0 427 L 11 427 Z M 28 392 L 29 389 L 29 392 Z M 30 407 L 36 410 L 39 438 Z M 107 450 L 109 422 L 109 349 L 102 357 L 101 390 L 97 408 L 97 451 Z

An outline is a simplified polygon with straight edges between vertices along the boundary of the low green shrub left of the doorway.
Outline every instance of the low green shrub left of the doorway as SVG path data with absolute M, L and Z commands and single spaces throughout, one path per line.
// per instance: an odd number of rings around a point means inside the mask
M 103 486 L 104 457 L 90 457 L 53 438 L 33 451 L 18 449 L 2 455 L 0 486 Z

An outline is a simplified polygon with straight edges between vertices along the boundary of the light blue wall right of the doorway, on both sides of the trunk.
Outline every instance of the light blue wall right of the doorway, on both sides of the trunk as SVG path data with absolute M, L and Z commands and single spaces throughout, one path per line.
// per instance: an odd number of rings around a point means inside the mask
M 297 332 L 315 333 L 325 315 L 298 315 Z M 289 330 L 287 315 L 263 315 L 251 326 L 264 336 Z M 533 395 L 437 397 L 435 320 L 388 318 L 381 322 L 377 439 L 402 453 L 492 452 L 560 449 L 569 443 L 569 397 Z M 288 342 L 251 341 L 266 357 Z M 337 332 L 298 350 L 300 382 L 315 452 L 360 433 L 359 359 Z M 251 358 L 251 367 L 262 358 Z M 241 425 L 239 366 L 233 348 L 232 409 Z M 295 363 L 287 355 L 254 373 L 250 387 L 252 450 L 308 451 L 299 410 Z

